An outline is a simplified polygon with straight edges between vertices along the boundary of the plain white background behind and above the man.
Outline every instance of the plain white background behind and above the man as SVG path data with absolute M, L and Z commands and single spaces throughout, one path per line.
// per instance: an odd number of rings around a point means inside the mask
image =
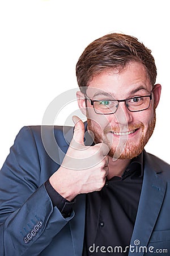
M 112 31 L 136 36 L 152 49 L 162 98 L 146 150 L 170 163 L 168 2 L 2 0 L 0 167 L 20 128 L 41 125 L 50 102 L 76 88 L 75 65 L 84 48 Z M 64 124 L 74 108 L 59 115 L 57 124 Z

